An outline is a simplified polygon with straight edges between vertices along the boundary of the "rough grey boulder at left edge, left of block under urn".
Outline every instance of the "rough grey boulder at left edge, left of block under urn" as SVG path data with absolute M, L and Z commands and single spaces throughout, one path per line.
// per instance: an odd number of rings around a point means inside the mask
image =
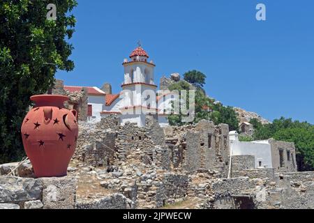
M 33 178 L 0 177 L 0 203 L 20 203 L 40 199 L 43 185 Z

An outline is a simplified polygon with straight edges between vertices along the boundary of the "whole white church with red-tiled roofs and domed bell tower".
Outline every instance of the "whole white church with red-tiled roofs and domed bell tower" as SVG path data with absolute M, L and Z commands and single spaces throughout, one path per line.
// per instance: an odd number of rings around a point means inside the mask
M 88 121 L 98 122 L 112 114 L 120 117 L 121 125 L 137 123 L 145 126 L 147 115 L 154 116 L 160 126 L 168 125 L 167 116 L 171 114 L 172 102 L 178 96 L 170 91 L 158 91 L 155 84 L 154 61 L 139 45 L 130 53 L 130 59 L 124 59 L 124 82 L 121 92 L 113 94 L 110 84 L 103 88 L 86 87 L 88 90 Z M 122 75 L 121 75 L 122 76 Z M 64 86 L 64 90 L 79 91 L 81 86 Z

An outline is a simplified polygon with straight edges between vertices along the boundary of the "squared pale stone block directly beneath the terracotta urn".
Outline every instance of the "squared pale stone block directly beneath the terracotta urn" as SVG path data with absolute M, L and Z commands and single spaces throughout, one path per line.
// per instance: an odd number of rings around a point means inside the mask
M 77 180 L 73 177 L 41 178 L 44 209 L 74 209 Z

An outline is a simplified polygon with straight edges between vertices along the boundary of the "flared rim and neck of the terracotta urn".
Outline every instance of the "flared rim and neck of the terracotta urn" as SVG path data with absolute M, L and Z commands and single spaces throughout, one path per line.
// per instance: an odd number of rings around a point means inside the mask
M 63 103 L 69 100 L 69 98 L 64 95 L 33 95 L 31 100 L 35 102 L 35 107 L 51 106 L 63 108 Z

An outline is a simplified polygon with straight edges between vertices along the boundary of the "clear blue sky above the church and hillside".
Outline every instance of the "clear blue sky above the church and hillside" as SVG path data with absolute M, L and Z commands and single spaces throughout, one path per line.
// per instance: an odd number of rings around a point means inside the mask
M 273 120 L 314 123 L 314 1 L 78 0 L 67 85 L 119 92 L 137 41 L 162 75 L 200 70 L 207 94 Z M 255 19 L 257 3 L 267 21 Z

